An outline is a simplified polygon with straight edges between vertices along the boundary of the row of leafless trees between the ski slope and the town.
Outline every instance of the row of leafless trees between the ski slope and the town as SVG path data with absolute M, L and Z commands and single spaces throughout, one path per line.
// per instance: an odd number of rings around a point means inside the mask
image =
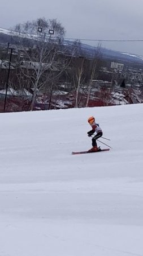
M 38 91 L 50 95 L 50 108 L 53 92 L 60 82 L 69 84 L 69 90 L 74 92 L 75 107 L 78 108 L 82 101 L 88 106 L 93 81 L 99 78 L 103 64 L 101 46 L 95 48 L 94 56 L 89 59 L 82 54 L 80 42 L 73 42 L 69 49 L 65 47 L 64 35 L 64 27 L 56 19 L 38 18 L 16 24 L 11 30 L 17 54 L 12 56 L 16 79 L 11 75 L 10 85 L 19 90 L 33 89 L 30 110 L 34 108 Z M 114 79 L 113 73 L 112 85 Z M 109 97 L 111 91 L 112 88 L 107 92 L 102 90 L 102 98 Z

